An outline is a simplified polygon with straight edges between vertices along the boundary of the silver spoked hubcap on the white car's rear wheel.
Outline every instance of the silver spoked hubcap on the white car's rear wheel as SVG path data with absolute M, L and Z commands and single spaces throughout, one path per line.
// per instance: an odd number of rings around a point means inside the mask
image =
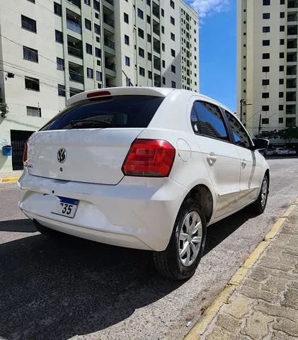
M 188 267 L 197 258 L 202 243 L 202 221 L 196 211 L 188 212 L 180 229 L 178 251 L 183 266 Z

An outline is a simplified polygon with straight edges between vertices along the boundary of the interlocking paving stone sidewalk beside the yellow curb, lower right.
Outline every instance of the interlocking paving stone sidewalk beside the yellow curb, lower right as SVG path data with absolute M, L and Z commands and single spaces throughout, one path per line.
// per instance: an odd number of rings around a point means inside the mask
M 298 209 L 200 339 L 298 339 Z

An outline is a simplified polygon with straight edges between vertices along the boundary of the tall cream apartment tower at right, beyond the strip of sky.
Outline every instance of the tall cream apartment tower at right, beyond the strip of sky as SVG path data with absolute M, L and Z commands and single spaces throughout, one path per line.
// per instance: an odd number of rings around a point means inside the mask
M 252 135 L 297 125 L 298 0 L 237 4 L 237 112 Z

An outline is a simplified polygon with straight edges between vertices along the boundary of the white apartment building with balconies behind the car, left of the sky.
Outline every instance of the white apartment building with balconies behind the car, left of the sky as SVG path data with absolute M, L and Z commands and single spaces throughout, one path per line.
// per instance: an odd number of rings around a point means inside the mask
M 23 169 L 25 140 L 81 91 L 199 89 L 198 14 L 182 0 L 0 3 L 0 171 Z

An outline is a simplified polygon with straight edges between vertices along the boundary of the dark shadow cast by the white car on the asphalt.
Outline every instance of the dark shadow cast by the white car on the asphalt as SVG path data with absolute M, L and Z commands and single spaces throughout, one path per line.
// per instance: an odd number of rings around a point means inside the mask
M 208 227 L 205 254 L 250 217 L 243 210 Z M 1 230 L 13 229 L 11 223 L 2 222 Z M 14 230 L 31 232 L 33 224 L 23 223 Z M 0 338 L 7 340 L 66 340 L 100 331 L 183 284 L 161 278 L 149 251 L 67 235 L 53 241 L 37 234 L 0 244 L 0 268 Z

